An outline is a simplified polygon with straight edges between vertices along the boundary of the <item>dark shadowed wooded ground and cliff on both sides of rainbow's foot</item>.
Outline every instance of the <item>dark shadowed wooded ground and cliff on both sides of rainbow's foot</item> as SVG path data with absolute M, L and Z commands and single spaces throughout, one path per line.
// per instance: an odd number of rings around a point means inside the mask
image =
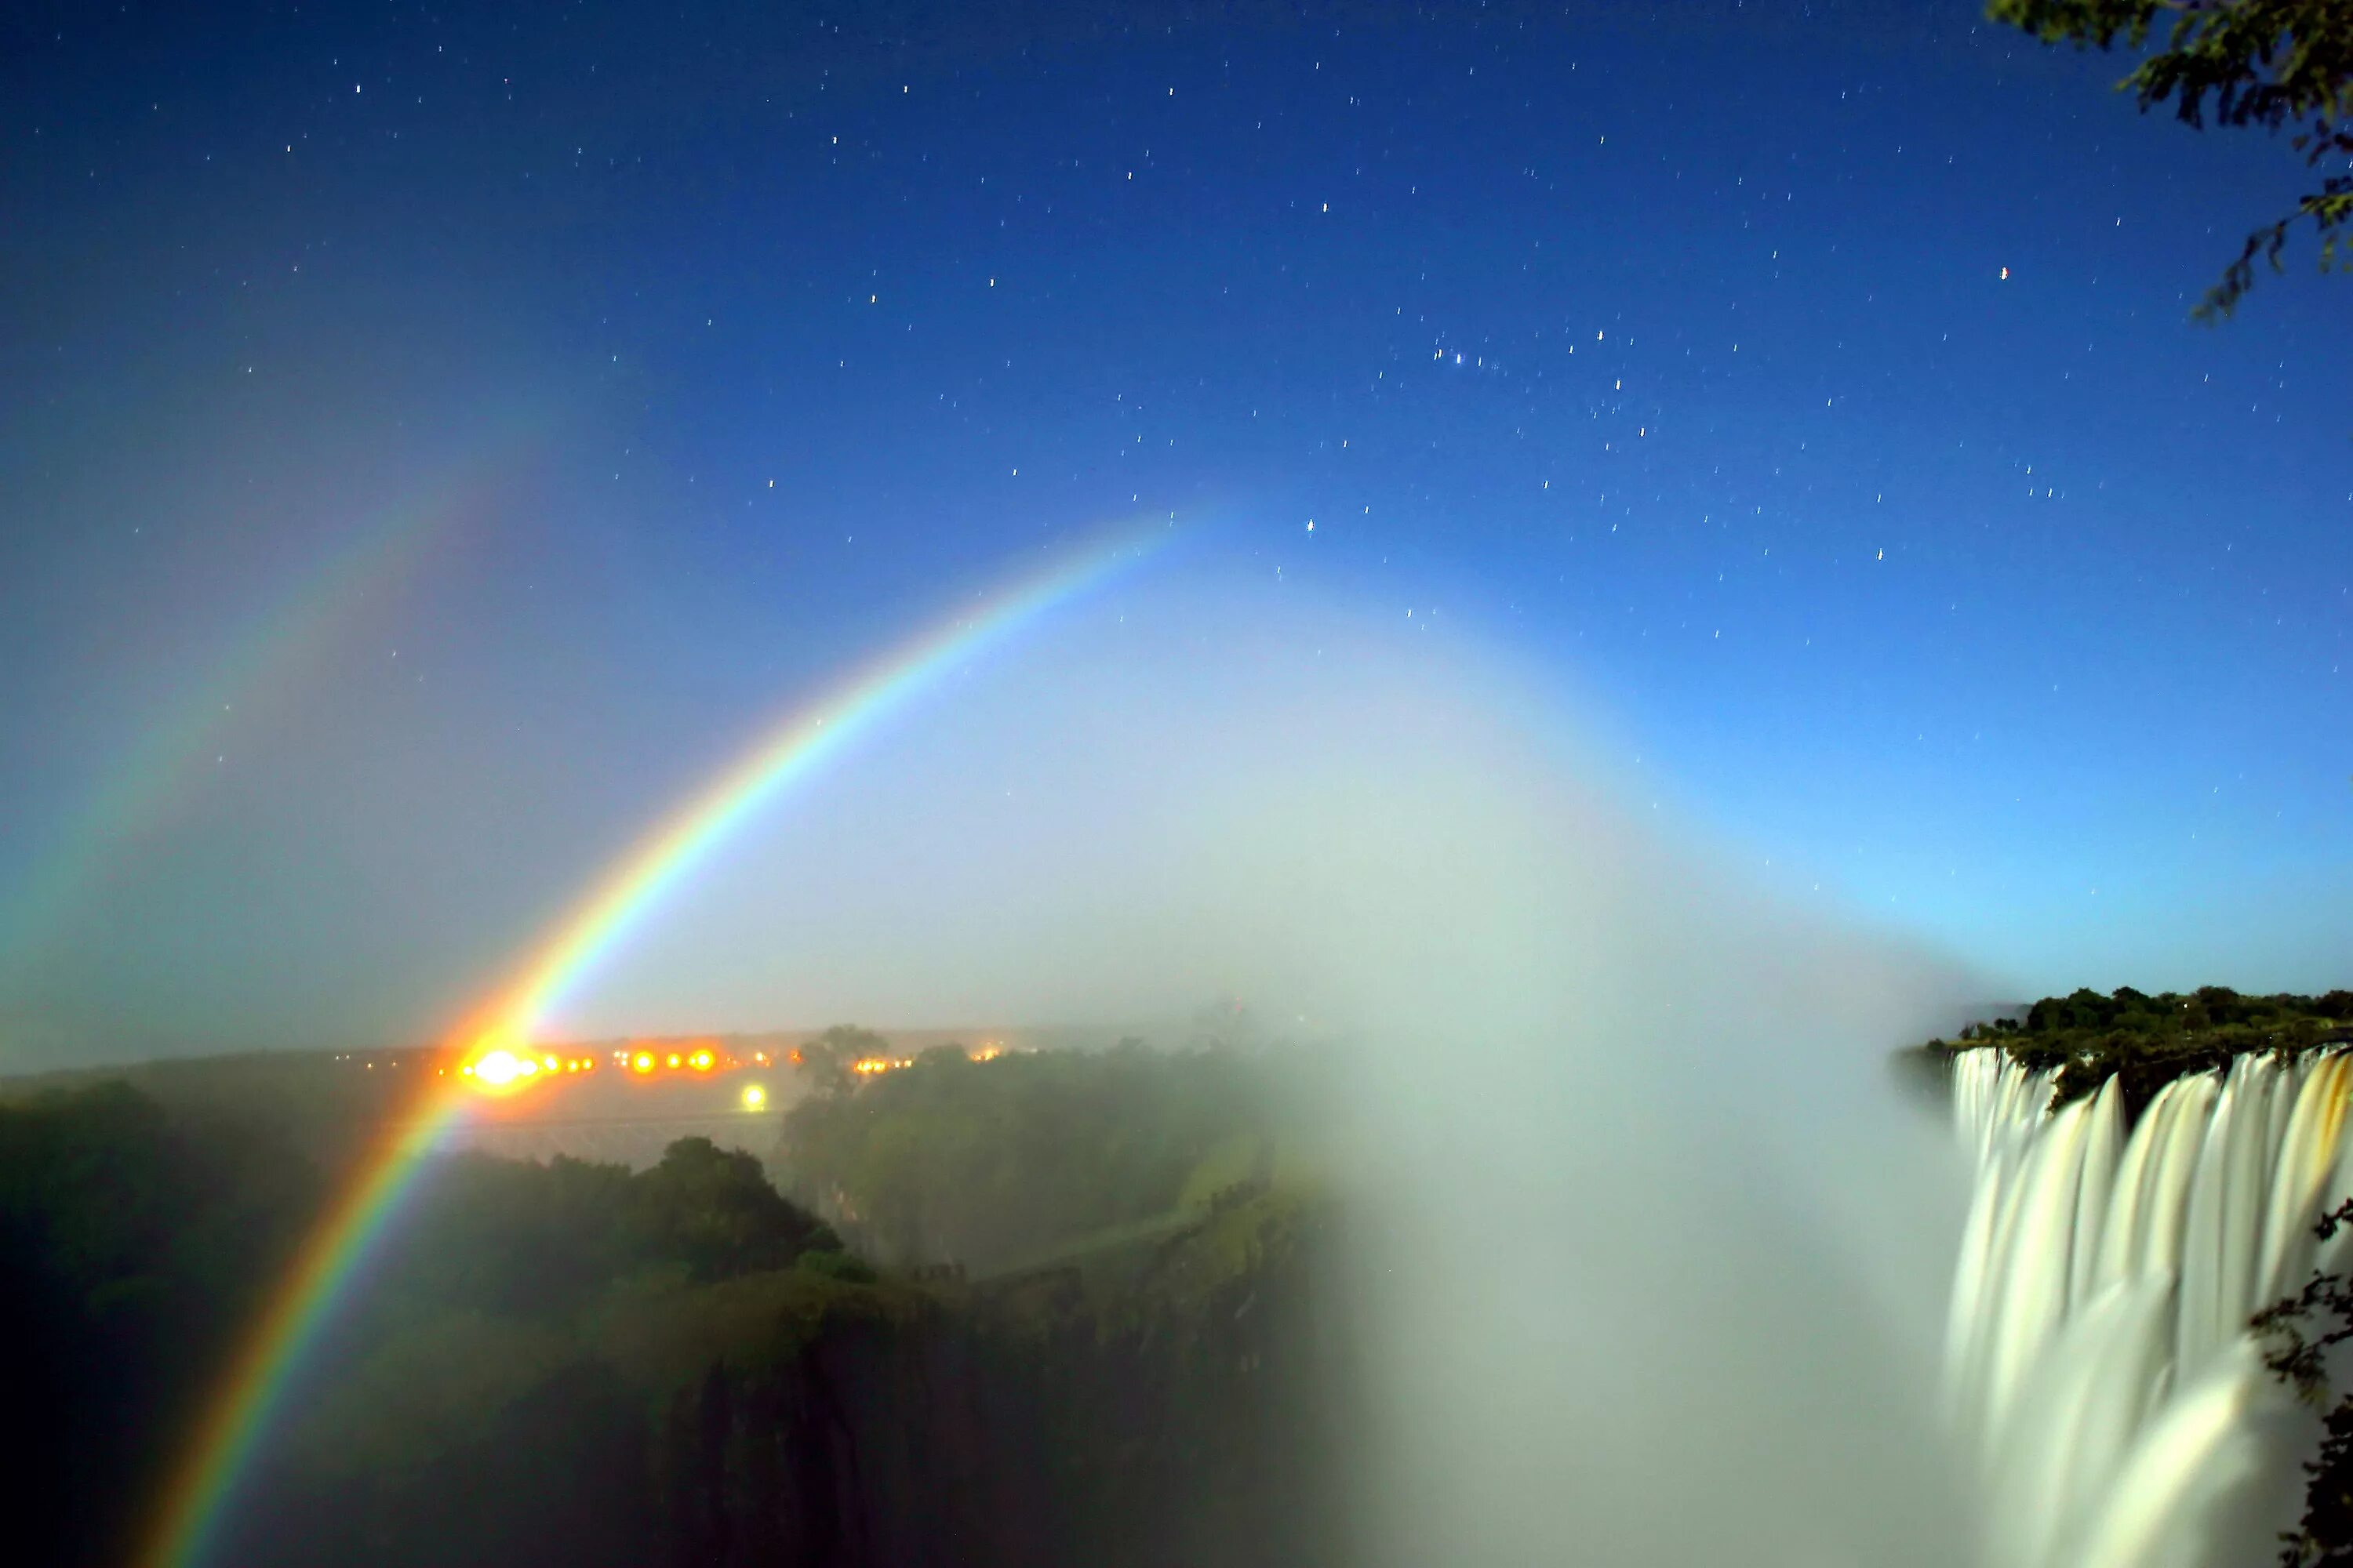
M 1257 1072 L 1134 1046 L 934 1060 L 805 1119 L 854 1164 L 805 1182 L 878 1182 L 901 1215 L 965 1215 L 984 1175 L 1122 1173 L 1059 1229 L 979 1232 L 1033 1251 L 991 1276 L 878 1274 L 706 1140 L 640 1173 L 449 1157 L 219 1561 L 1341 1561 L 1334 1211 L 1273 1159 Z M 1019 1145 L 939 1143 L 1007 1110 Z M 120 1084 L 0 1107 L 19 1561 L 120 1561 L 329 1185 L 249 1121 Z

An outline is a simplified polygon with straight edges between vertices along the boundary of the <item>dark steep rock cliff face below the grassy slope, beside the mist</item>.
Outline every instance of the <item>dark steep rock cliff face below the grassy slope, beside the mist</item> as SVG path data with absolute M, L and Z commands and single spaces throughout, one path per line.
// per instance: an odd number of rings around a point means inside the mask
M 1249 1204 L 1136 1255 L 831 1312 L 678 1389 L 678 1568 L 1268 1568 L 1348 1556 L 1320 1227 Z

